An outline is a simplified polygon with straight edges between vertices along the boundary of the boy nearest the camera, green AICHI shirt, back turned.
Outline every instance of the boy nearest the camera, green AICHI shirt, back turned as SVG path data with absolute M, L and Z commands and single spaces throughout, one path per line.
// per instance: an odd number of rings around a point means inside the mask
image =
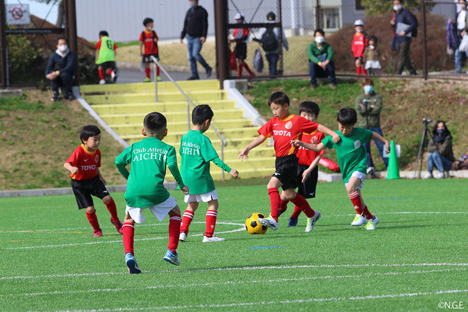
M 180 233 L 180 209 L 176 199 L 164 187 L 166 166 L 176 179 L 178 187 L 185 194 L 189 188 L 182 181 L 177 168 L 176 149 L 162 142 L 167 136 L 167 120 L 160 113 L 150 113 L 143 121 L 141 134 L 146 138 L 127 147 L 116 158 L 118 171 L 127 181 L 125 192 L 125 222 L 123 223 L 123 246 L 125 263 L 129 273 L 141 273 L 135 260 L 133 249 L 135 222 L 145 222 L 144 209 L 151 210 L 153 215 L 162 221 L 169 214 L 169 245 L 163 259 L 174 265 L 180 265 L 176 252 Z M 131 165 L 130 172 L 125 166 Z

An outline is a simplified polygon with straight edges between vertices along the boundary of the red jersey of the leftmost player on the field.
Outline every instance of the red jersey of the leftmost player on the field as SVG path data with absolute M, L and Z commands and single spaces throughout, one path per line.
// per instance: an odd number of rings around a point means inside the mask
M 84 144 L 81 144 L 65 162 L 69 162 L 73 167 L 78 167 L 78 173 L 70 173 L 72 179 L 90 180 L 98 174 L 98 168 L 101 166 L 101 151 L 97 149 L 90 152 L 84 148 Z

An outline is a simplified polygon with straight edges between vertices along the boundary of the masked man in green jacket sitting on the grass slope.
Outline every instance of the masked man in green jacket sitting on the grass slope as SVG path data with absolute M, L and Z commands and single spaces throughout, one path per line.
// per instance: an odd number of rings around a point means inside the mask
M 317 77 L 329 77 L 330 87 L 336 88 L 335 64 L 333 62 L 333 49 L 324 40 L 325 32 L 316 29 L 314 32 L 314 42 L 307 47 L 309 56 L 309 76 L 311 76 L 311 89 L 317 87 Z

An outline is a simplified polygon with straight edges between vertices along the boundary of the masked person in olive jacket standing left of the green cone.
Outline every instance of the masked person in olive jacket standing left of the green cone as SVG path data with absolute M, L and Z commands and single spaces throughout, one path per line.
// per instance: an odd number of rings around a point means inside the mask
M 364 78 L 361 83 L 364 93 L 356 98 L 356 111 L 359 113 L 357 120 L 358 127 L 372 130 L 373 132 L 382 135 L 380 128 L 380 112 L 382 111 L 382 96 L 374 91 L 374 82 L 370 78 Z M 389 164 L 389 158 L 384 157 L 384 144 L 375 140 L 375 145 L 379 150 L 379 154 L 384 160 L 385 168 Z M 371 178 L 376 178 L 374 162 L 370 155 L 370 142 L 363 143 L 367 152 L 367 174 Z

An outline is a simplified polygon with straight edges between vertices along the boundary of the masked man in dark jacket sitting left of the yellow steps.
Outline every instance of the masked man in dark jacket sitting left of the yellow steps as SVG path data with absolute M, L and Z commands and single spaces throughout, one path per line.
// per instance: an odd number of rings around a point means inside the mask
M 72 83 L 75 80 L 77 56 L 68 49 L 67 40 L 57 39 L 57 50 L 51 54 L 45 67 L 45 77 L 50 80 L 54 96 L 53 102 L 59 100 L 59 87 L 65 88 L 64 99 L 72 98 Z

